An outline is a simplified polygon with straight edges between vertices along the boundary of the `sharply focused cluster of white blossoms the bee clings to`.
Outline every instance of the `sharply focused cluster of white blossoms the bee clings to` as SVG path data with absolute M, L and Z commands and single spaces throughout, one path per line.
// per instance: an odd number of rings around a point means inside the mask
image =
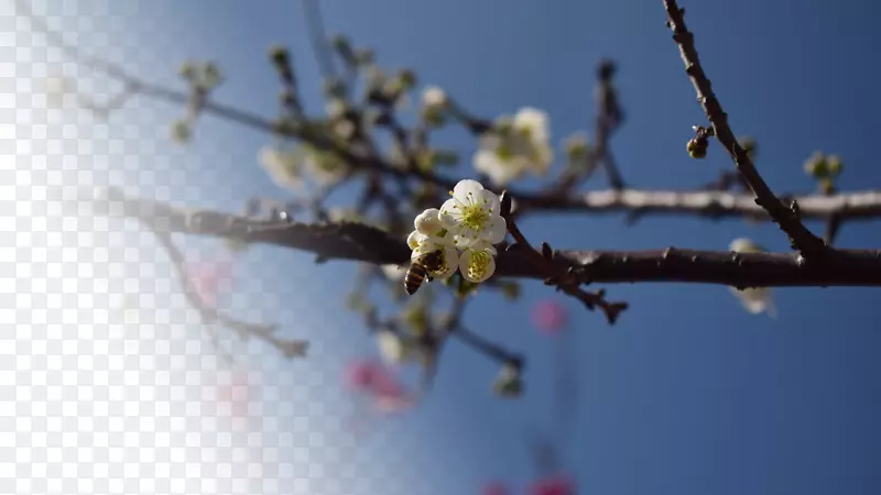
M 493 244 L 502 242 L 507 232 L 501 202 L 470 179 L 459 182 L 450 195 L 440 209 L 431 208 L 416 217 L 416 230 L 406 241 L 413 250 L 411 258 L 439 250 L 443 264 L 431 273 L 433 277 L 447 278 L 459 270 L 466 280 L 479 284 L 496 272 Z

